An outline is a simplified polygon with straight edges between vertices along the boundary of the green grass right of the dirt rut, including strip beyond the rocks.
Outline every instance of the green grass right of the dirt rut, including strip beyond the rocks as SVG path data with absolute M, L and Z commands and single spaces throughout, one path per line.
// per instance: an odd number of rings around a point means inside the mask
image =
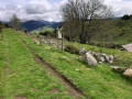
M 20 33 L 18 32 L 18 34 Z M 20 36 L 30 47 L 33 48 L 33 51 L 35 51 L 47 63 L 52 64 L 61 74 L 68 77 L 90 99 L 132 98 L 131 80 L 121 74 L 112 72 L 108 64 L 98 64 L 97 67 L 92 67 L 81 61 L 78 61 L 77 55 L 62 52 L 61 50 L 45 44 L 37 46 L 36 44 L 33 44 L 30 36 L 26 36 L 25 34 L 20 34 Z M 96 46 L 80 44 L 77 44 L 77 46 L 87 47 L 87 50 L 97 52 L 108 52 L 107 54 L 113 53 L 112 50 Z M 119 54 L 121 52 L 119 52 Z M 128 57 L 131 55 L 131 53 L 122 53 L 127 54 Z M 64 56 L 68 59 L 63 58 Z

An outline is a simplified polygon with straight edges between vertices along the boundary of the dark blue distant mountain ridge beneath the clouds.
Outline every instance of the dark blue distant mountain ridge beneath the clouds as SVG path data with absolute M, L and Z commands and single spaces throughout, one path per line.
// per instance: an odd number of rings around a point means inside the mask
M 26 21 L 22 23 L 22 28 L 25 28 L 29 30 L 29 32 L 33 31 L 33 30 L 37 30 L 40 28 L 44 28 L 44 26 L 50 26 L 53 29 L 56 29 L 58 25 L 61 25 L 62 22 L 48 22 L 48 21 L 43 21 L 43 20 L 38 20 L 38 21 Z

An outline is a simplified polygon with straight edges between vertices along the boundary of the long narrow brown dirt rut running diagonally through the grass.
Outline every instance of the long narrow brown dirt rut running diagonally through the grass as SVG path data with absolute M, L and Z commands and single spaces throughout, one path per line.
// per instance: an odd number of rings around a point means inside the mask
M 26 45 L 26 43 L 20 36 L 19 36 L 19 38 L 22 41 L 23 45 L 34 55 L 35 61 L 38 64 L 41 64 L 41 66 L 43 66 L 48 73 L 51 73 L 52 76 L 56 77 L 57 79 L 61 79 L 62 84 L 65 86 L 65 88 L 70 97 L 76 97 L 76 99 L 79 99 L 80 97 L 88 98 L 65 75 L 59 74 L 54 66 L 46 63 L 29 45 Z

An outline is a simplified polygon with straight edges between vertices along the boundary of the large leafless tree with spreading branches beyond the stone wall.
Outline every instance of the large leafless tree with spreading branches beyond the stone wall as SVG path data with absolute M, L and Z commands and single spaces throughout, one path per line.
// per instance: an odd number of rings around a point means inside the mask
M 101 0 L 68 0 L 63 7 L 64 21 L 68 28 L 74 28 L 80 43 L 90 43 L 94 32 L 99 28 L 101 20 L 112 16 L 110 9 Z

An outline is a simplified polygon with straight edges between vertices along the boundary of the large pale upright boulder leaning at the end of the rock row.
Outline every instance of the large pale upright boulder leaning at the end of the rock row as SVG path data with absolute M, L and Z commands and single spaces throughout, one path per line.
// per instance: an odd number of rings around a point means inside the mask
M 97 61 L 96 58 L 89 54 L 89 53 L 86 53 L 85 54 L 85 61 L 89 64 L 89 65 L 92 65 L 92 66 L 97 66 Z

